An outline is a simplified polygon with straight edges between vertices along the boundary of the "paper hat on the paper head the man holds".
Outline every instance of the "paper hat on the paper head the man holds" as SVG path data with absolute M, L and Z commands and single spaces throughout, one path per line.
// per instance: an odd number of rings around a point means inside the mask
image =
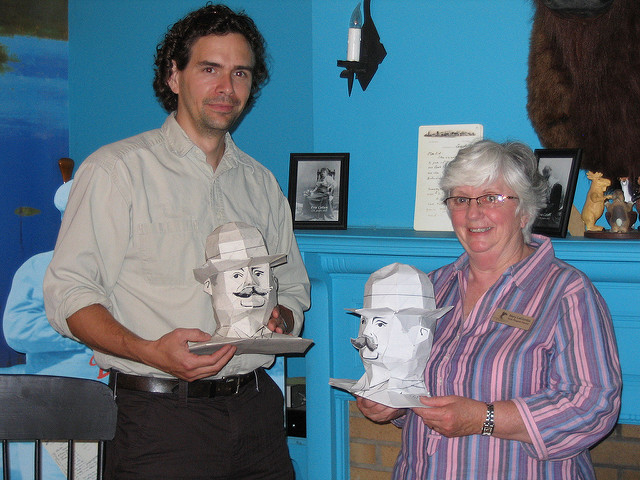
M 242 222 L 225 223 L 211 232 L 205 253 L 207 263 L 193 270 L 200 283 L 220 272 L 265 263 L 275 267 L 287 261 L 284 253 L 269 255 L 260 231 Z

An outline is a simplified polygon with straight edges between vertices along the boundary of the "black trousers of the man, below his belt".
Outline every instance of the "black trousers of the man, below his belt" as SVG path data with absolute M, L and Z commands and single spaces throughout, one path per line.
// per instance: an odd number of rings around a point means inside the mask
M 180 399 L 117 390 L 106 479 L 291 480 L 280 388 L 263 370 L 236 395 Z

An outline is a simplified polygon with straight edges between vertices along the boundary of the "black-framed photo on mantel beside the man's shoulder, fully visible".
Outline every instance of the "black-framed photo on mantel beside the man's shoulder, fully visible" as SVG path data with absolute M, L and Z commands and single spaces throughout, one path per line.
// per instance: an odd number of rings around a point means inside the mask
M 292 153 L 289 205 L 293 228 L 346 229 L 348 153 Z

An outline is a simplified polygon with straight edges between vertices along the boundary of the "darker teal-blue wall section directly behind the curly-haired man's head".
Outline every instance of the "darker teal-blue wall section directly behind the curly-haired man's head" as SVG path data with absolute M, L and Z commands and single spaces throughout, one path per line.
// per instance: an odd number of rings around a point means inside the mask
M 167 28 L 204 5 L 193 0 L 69 0 L 70 155 L 162 125 L 151 82 Z M 286 191 L 289 153 L 313 149 L 311 2 L 229 1 L 267 39 L 272 78 L 234 133 Z

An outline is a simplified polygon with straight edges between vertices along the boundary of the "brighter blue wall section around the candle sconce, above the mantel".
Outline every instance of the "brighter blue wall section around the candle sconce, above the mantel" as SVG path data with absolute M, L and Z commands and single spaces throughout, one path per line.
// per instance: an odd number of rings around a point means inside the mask
M 537 142 L 526 114 L 529 0 L 372 0 L 387 50 L 347 96 L 336 58 L 356 1 L 313 3 L 314 147 L 351 152 L 349 224 L 412 227 L 418 127 L 481 123 Z

